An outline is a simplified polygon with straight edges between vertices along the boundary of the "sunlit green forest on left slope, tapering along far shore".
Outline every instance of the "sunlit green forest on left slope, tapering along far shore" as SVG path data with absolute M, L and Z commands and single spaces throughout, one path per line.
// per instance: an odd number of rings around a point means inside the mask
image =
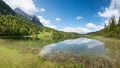
M 19 15 L 0 14 L 0 36 L 35 35 L 37 37 L 38 34 L 42 34 L 44 32 L 52 32 L 51 38 L 53 39 L 80 37 L 80 34 L 78 33 L 57 31 L 48 27 L 38 27 Z

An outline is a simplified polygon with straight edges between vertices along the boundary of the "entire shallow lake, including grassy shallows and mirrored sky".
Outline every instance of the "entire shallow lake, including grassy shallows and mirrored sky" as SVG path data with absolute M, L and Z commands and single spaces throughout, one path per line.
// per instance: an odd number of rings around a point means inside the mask
M 6 62 L 0 62 L 0 64 L 15 66 L 14 64 L 17 63 L 23 66 L 30 63 L 31 66 L 39 64 L 38 67 L 50 64 L 56 66 L 57 64 L 58 66 L 71 65 L 73 68 L 74 65 L 82 64 L 85 68 L 99 68 L 101 66 L 102 68 L 119 68 L 120 40 L 100 36 L 94 38 L 44 40 L 3 37 L 0 39 L 0 61 Z

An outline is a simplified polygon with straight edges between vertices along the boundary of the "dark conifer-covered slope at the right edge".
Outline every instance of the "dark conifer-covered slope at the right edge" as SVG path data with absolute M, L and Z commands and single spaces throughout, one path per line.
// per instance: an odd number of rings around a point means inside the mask
M 115 17 L 112 17 L 109 20 L 108 25 L 105 24 L 104 29 L 93 33 L 93 35 L 101 35 L 120 39 L 120 18 L 118 21 L 116 21 Z

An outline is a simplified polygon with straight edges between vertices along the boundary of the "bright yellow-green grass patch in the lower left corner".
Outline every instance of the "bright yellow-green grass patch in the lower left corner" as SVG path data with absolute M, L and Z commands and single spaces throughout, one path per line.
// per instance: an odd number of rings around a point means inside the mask
M 0 68 L 17 68 L 21 63 L 21 66 L 26 66 L 35 62 L 32 59 L 36 59 L 32 54 L 24 54 L 20 51 L 3 46 L 0 46 L 0 54 Z M 24 63 L 27 64 L 24 65 Z

